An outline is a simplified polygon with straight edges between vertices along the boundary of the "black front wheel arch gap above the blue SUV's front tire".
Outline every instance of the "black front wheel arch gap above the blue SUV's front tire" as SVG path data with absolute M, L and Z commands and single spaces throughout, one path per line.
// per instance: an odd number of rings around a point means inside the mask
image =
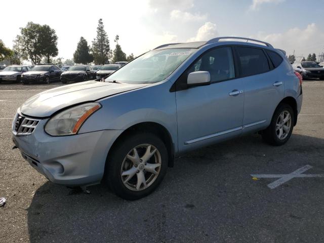
M 113 150 L 114 146 L 117 143 L 121 142 L 128 135 L 136 132 L 146 132 L 146 133 L 149 132 L 157 135 L 160 139 L 162 139 L 162 141 L 164 142 L 168 150 L 168 156 L 169 156 L 168 166 L 169 167 L 174 166 L 175 147 L 174 147 L 174 142 L 172 140 L 172 136 L 163 125 L 160 125 L 152 121 L 135 124 L 129 127 L 128 129 L 126 129 L 125 131 L 123 131 L 123 133 L 121 133 L 111 145 L 107 154 L 107 158 L 109 157 L 109 153 L 111 153 L 111 151 Z

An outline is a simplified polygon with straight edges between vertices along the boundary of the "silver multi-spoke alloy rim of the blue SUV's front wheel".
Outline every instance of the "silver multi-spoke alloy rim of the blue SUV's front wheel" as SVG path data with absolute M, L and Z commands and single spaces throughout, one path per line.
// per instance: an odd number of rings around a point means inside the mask
M 124 185 L 133 191 L 148 188 L 159 175 L 161 154 L 151 144 L 140 144 L 125 156 L 120 169 Z

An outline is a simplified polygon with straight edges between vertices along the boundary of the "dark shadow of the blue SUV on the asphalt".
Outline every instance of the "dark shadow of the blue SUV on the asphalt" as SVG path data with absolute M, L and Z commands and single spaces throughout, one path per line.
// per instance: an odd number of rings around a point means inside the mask
M 176 158 L 159 188 L 137 201 L 120 199 L 103 185 L 88 187 L 87 194 L 46 182 L 28 209 L 29 238 L 31 242 L 223 242 L 231 235 L 230 242 L 261 242 L 264 237 L 281 242 L 302 237 L 300 229 L 305 227 L 311 227 L 314 235 L 322 234 L 320 216 L 307 214 L 303 205 L 310 207 L 309 198 L 314 196 L 324 199 L 318 195 L 324 179 L 303 180 L 304 184 L 296 179 L 271 190 L 266 186 L 271 180 L 254 181 L 250 174 L 291 173 L 306 164 L 324 173 L 323 156 L 320 138 L 293 134 L 286 145 L 273 147 L 259 135 L 250 135 Z

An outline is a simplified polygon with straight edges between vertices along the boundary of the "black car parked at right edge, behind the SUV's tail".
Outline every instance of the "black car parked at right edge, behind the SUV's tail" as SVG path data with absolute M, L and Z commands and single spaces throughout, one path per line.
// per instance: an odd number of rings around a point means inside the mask
M 324 78 L 324 68 L 316 62 L 295 62 L 295 71 L 299 72 L 303 78 Z

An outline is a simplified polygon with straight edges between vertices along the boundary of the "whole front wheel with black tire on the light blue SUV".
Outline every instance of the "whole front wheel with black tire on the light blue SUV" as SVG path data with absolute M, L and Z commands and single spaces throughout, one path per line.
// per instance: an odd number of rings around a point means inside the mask
M 143 156 L 147 151 L 152 153 L 148 160 Z M 117 141 L 109 152 L 104 181 L 119 197 L 137 200 L 158 187 L 167 173 L 167 167 L 168 151 L 163 141 L 151 133 L 133 133 L 124 137 L 123 141 Z M 152 170 L 155 173 L 150 172 Z M 145 179 L 145 183 L 139 178 Z

